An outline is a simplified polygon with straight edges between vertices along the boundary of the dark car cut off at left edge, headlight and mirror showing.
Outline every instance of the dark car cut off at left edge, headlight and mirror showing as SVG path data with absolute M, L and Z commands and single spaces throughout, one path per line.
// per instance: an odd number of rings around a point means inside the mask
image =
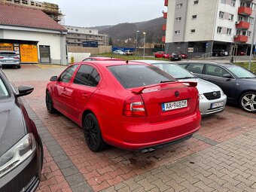
M 43 146 L 19 99 L 33 88 L 18 90 L 0 69 L 0 191 L 35 191 L 41 178 Z

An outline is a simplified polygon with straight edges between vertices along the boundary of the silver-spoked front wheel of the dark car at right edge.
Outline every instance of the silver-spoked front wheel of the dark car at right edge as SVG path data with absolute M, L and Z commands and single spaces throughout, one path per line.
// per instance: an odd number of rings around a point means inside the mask
M 256 92 L 243 93 L 239 98 L 239 106 L 246 112 L 256 113 Z

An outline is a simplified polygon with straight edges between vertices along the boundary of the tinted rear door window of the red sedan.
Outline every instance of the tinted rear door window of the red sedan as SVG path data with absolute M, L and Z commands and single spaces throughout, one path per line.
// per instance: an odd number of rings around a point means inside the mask
M 96 87 L 99 84 L 99 73 L 92 66 L 82 65 L 75 76 L 74 84 Z

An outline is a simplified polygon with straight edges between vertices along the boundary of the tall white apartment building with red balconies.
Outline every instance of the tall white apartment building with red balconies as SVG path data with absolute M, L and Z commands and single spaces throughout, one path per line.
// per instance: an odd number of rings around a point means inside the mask
M 212 50 L 250 52 L 256 0 L 165 0 L 166 51 L 201 56 Z

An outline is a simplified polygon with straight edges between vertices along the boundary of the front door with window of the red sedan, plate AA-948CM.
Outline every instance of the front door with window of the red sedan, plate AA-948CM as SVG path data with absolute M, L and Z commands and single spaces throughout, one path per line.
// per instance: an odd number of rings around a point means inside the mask
M 78 65 L 73 65 L 67 68 L 59 76 L 59 79 L 58 81 L 56 81 L 56 84 L 53 85 L 53 102 L 56 105 L 56 108 L 65 114 L 68 110 L 66 102 L 71 96 L 68 85 L 70 84 L 72 76 L 74 75 L 74 72 L 77 68 Z

